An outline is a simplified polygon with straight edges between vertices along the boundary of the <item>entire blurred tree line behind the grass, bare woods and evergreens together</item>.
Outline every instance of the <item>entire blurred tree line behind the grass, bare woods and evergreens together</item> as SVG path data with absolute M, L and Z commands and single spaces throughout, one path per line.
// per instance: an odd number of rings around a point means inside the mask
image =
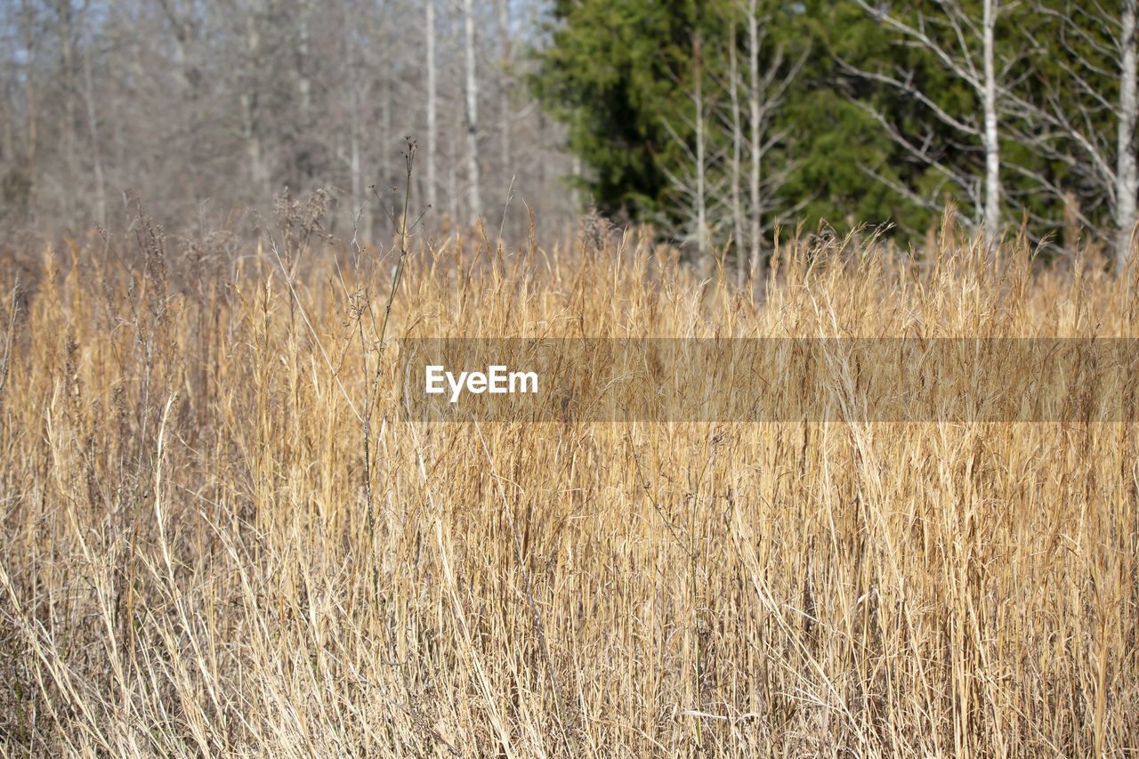
M 596 203 L 730 240 L 740 277 L 777 226 L 920 244 L 950 202 L 1118 255 L 1137 1 L 0 0 L 0 225 L 331 186 L 339 231 L 375 238 L 410 134 L 429 223 L 521 234 L 525 203 L 548 236 Z

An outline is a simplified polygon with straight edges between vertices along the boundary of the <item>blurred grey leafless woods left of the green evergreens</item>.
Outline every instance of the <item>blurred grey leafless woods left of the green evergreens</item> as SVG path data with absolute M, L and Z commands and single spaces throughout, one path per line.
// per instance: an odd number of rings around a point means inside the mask
M 518 87 L 539 10 L 0 0 L 0 225 L 113 225 L 131 190 L 178 228 L 233 210 L 264 217 L 286 187 L 303 198 L 331 186 L 341 231 L 390 235 L 411 136 L 412 206 L 432 205 L 429 222 L 482 214 L 487 229 L 523 232 L 525 202 L 562 231 L 574 213 L 564 128 Z

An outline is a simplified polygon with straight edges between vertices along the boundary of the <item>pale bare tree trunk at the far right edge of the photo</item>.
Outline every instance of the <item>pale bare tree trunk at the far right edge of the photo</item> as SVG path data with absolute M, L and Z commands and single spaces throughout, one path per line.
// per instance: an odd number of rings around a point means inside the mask
M 1139 194 L 1139 169 L 1136 166 L 1136 6 L 1124 0 L 1120 43 L 1120 123 L 1115 171 L 1115 260 L 1122 268 L 1131 251 L 1136 228 L 1136 195 Z

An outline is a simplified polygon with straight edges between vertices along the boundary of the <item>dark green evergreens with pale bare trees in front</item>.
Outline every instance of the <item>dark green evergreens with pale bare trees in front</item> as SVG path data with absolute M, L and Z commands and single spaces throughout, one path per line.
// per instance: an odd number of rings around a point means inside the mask
M 1136 0 L 556 0 L 535 95 L 583 191 L 740 276 L 776 225 L 945 204 L 1117 256 L 1136 225 Z M 1087 237 L 1085 237 L 1087 239 Z

